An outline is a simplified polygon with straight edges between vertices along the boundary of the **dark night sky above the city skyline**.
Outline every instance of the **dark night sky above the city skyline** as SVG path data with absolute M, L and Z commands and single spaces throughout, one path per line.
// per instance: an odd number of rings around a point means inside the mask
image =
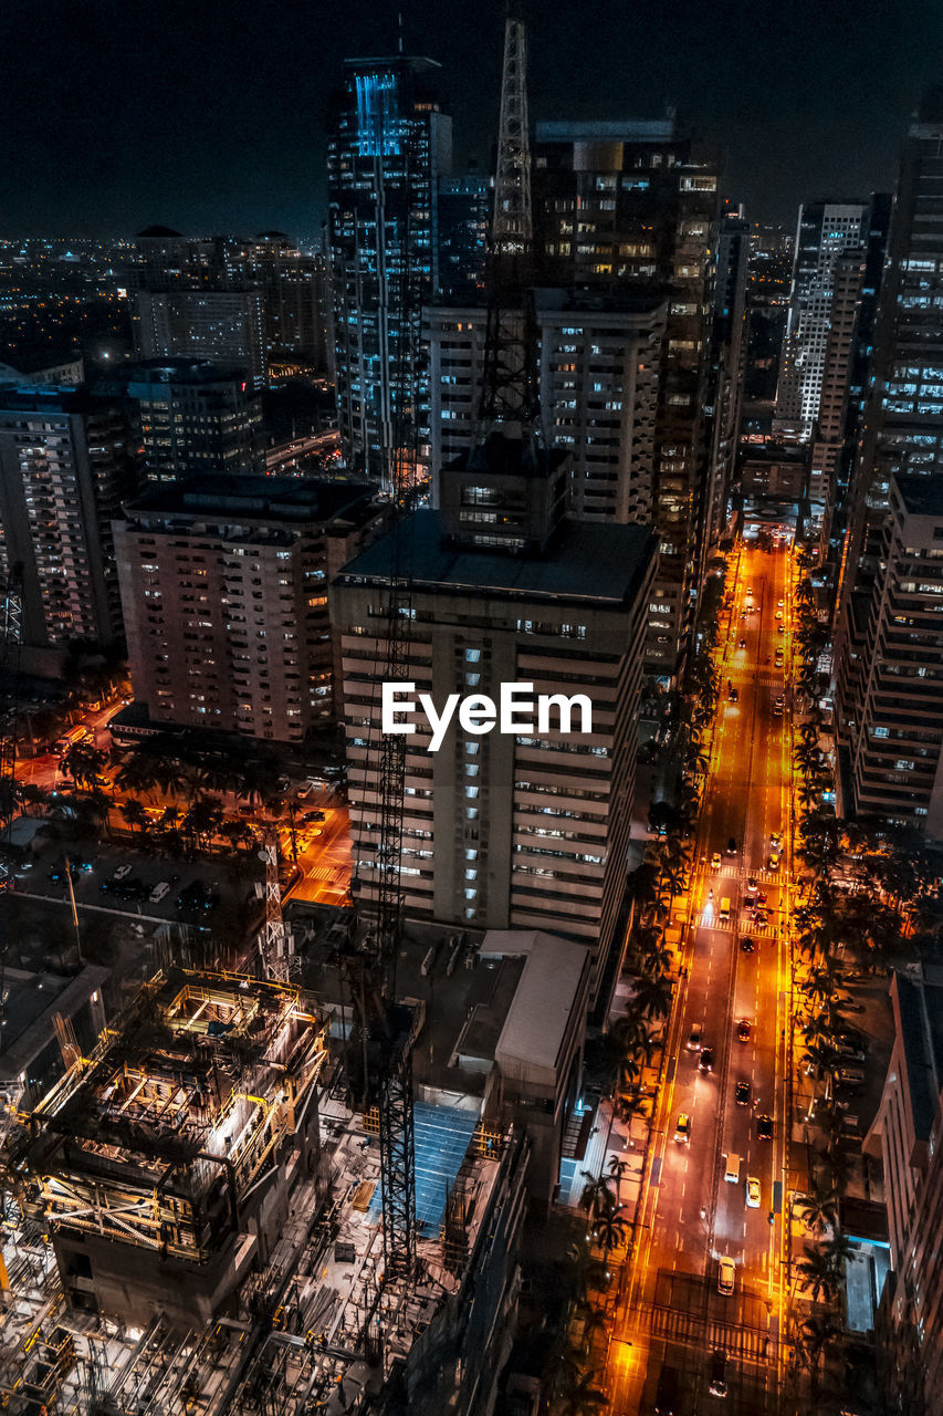
M 457 164 L 488 163 L 504 0 L 3 0 L 0 236 L 278 228 L 323 218 L 341 59 L 439 59 Z M 724 193 L 793 224 L 817 195 L 892 187 L 943 79 L 940 0 L 530 0 L 531 115 L 682 122 Z

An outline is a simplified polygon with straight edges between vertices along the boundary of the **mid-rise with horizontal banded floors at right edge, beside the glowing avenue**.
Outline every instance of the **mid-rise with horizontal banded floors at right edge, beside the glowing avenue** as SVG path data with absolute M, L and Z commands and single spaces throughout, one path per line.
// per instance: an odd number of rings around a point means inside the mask
M 943 838 L 942 477 L 891 479 L 878 575 L 847 613 L 840 814 Z

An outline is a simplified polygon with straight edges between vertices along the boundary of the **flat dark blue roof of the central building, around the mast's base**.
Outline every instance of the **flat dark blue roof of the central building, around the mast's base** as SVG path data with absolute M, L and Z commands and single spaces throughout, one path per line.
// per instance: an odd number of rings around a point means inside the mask
M 640 592 L 653 554 L 647 527 L 571 521 L 541 555 L 491 555 L 452 545 L 438 511 L 415 511 L 350 561 L 334 583 L 387 582 L 398 566 L 415 588 L 615 606 Z

